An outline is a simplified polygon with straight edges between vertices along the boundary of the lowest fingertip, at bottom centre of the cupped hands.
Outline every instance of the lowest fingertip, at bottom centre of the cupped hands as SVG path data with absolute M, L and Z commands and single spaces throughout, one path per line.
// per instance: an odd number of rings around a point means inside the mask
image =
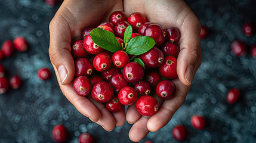
M 139 142 L 147 135 L 147 133 L 149 133 L 149 130 L 147 129 L 147 120 L 149 120 L 149 117 L 141 116 L 140 119 L 132 125 L 129 130 L 129 139 L 131 139 L 131 141 Z

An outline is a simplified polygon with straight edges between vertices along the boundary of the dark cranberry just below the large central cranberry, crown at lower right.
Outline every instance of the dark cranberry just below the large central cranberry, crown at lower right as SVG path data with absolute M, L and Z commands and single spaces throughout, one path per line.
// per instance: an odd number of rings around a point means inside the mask
M 149 95 L 151 93 L 151 86 L 149 82 L 141 80 L 134 86 L 135 91 L 138 95 Z

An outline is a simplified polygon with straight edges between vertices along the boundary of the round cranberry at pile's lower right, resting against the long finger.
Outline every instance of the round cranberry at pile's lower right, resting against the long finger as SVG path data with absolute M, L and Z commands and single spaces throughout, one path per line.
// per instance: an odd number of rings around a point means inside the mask
M 170 80 L 162 80 L 158 83 L 156 86 L 156 94 L 158 97 L 169 100 L 174 96 L 174 93 L 176 91 L 176 86 L 173 82 Z

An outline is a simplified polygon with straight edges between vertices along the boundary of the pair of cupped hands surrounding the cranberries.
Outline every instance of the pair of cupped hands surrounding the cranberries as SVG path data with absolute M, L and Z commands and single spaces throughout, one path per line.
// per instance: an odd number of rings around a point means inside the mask
M 124 11 L 126 15 L 140 12 L 146 15 L 147 21 L 160 24 L 165 29 L 177 27 L 180 30 L 178 78 L 172 80 L 176 85 L 176 92 L 170 100 L 156 98 L 161 108 L 151 117 L 141 116 L 135 105 L 130 105 L 127 113 L 124 106 L 120 111 L 110 113 L 104 104 L 95 102 L 90 95 L 82 97 L 73 90 L 75 66 L 70 54 L 72 41 L 82 39 L 81 33 L 86 27 L 95 27 L 108 21 L 113 11 Z M 150 131 L 156 132 L 163 128 L 171 120 L 175 111 L 183 104 L 193 77 L 201 65 L 201 24 L 182 0 L 64 0 L 51 20 L 49 29 L 50 59 L 66 98 L 79 112 L 107 131 L 124 125 L 127 120 L 133 124 L 129 130 L 129 138 L 135 142 L 143 139 Z

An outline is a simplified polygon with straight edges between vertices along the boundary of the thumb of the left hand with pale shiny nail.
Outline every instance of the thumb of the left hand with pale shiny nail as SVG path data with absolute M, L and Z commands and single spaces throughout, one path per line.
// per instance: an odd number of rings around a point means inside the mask
M 71 51 L 71 32 L 68 21 L 55 15 L 49 25 L 50 47 L 49 56 L 51 63 L 55 67 L 56 76 L 61 85 L 69 84 L 75 74 L 75 66 Z

